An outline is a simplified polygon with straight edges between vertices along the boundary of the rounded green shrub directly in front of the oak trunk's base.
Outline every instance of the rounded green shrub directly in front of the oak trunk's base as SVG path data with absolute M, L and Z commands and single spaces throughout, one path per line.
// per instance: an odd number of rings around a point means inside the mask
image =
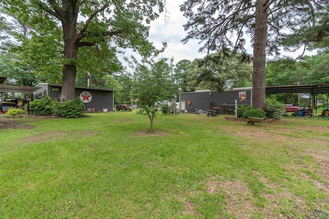
M 76 98 L 73 101 L 66 101 L 57 106 L 56 115 L 65 118 L 80 118 L 84 117 L 85 107 L 81 99 Z

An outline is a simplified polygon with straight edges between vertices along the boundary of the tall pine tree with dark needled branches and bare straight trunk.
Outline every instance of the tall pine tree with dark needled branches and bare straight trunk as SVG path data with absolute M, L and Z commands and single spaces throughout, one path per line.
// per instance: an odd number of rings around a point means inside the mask
M 326 7 L 327 1 L 321 0 L 187 0 L 180 6 L 188 17 L 184 26 L 188 35 L 182 42 L 199 39 L 205 42 L 200 51 L 208 53 L 227 48 L 246 53 L 245 36 L 251 36 L 253 107 L 264 109 L 266 53 L 278 54 L 288 39 L 294 39 L 293 49 L 307 46 L 309 38 L 296 36 L 301 29 L 317 27 L 317 14 L 326 13 Z

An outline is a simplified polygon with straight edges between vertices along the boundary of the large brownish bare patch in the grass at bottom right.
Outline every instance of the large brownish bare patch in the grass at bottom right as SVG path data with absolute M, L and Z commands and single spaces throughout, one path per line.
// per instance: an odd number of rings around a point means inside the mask
M 259 172 L 255 174 L 266 186 L 260 192 L 260 196 L 265 198 L 262 202 L 263 206 L 257 204 L 258 197 L 240 180 L 210 180 L 205 186 L 207 192 L 211 194 L 225 193 L 227 198 L 225 210 L 236 218 L 253 218 L 256 212 L 261 213 L 264 218 L 296 218 L 296 215 L 306 213 L 304 197 L 295 195 L 282 185 L 269 182 Z M 286 208 L 290 204 L 292 207 L 287 211 Z

